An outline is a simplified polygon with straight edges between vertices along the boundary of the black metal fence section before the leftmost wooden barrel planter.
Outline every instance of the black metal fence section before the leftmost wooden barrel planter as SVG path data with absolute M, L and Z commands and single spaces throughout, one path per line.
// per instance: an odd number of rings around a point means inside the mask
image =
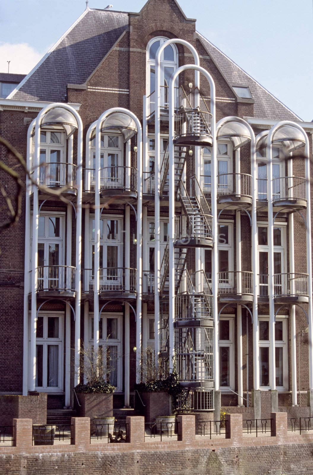
M 70 424 L 34 424 L 33 445 L 70 445 L 73 439 L 73 426 Z

